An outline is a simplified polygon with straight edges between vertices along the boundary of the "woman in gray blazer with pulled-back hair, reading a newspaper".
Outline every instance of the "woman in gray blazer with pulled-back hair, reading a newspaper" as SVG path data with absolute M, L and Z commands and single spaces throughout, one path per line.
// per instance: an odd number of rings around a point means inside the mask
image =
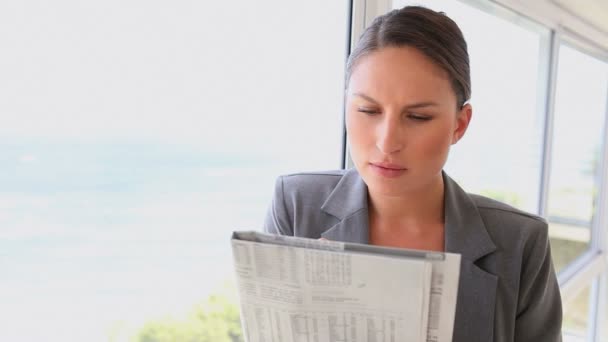
M 443 171 L 471 120 L 469 58 L 443 13 L 377 18 L 349 57 L 355 168 L 280 177 L 267 232 L 462 255 L 455 342 L 561 341 L 547 223 Z

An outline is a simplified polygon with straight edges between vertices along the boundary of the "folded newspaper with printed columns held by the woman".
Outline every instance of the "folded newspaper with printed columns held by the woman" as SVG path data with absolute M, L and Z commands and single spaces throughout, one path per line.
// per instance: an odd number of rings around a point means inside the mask
M 246 342 L 450 342 L 460 255 L 234 232 Z

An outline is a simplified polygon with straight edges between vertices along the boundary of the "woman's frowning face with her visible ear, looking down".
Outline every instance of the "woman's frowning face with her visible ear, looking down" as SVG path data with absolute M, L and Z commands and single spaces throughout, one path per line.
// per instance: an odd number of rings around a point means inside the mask
M 370 191 L 399 196 L 441 181 L 450 146 L 471 118 L 457 110 L 447 72 L 411 47 L 358 61 L 348 84 L 351 157 Z

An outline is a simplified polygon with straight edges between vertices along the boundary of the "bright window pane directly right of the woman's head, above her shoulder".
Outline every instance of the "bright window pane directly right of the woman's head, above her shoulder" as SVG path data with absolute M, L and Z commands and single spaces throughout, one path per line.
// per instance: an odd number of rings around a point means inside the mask
M 445 12 L 469 48 L 473 118 L 446 171 L 467 191 L 538 212 L 545 101 L 539 56 L 548 32 L 453 0 L 394 0 L 393 8 L 408 4 Z

